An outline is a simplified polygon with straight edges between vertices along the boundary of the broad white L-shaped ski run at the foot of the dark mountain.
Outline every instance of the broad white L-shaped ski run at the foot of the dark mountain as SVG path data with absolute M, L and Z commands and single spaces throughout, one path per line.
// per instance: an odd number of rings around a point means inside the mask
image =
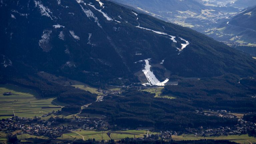
M 152 71 L 150 71 L 150 67 L 151 65 L 149 65 L 149 59 L 146 59 L 144 60 L 146 62 L 146 65 L 145 65 L 145 69 L 142 70 L 143 73 L 145 74 L 147 80 L 148 80 L 148 83 L 145 83 L 143 85 L 157 85 L 157 86 L 164 86 L 168 81 L 169 79 L 167 78 L 165 81 L 163 82 L 160 82 L 156 76 L 154 75 L 154 73 Z

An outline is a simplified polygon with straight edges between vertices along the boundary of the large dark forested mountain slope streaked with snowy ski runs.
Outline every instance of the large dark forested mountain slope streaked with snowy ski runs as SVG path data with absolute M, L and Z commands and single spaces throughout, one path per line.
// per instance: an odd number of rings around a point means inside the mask
M 144 60 L 163 79 L 256 73 L 247 54 L 105 0 L 6 0 L 0 12 L 3 79 L 46 71 L 92 85 L 147 82 Z

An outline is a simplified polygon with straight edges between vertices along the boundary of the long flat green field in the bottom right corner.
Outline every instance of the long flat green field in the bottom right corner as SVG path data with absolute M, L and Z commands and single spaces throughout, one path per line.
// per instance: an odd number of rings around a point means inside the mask
M 175 136 L 172 135 L 173 140 L 200 140 L 200 139 L 214 139 L 214 140 L 229 140 L 237 143 L 245 143 L 250 144 L 256 143 L 256 138 L 251 137 L 248 134 L 243 135 L 229 135 L 229 136 L 218 136 L 218 137 L 202 137 L 202 136 L 195 136 L 195 135 L 181 135 L 181 136 Z

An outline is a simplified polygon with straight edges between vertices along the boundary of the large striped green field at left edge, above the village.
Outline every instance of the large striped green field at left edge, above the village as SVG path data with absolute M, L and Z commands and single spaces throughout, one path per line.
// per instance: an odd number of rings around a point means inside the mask
M 14 95 L 4 96 L 4 92 L 12 92 Z M 14 114 L 29 118 L 42 116 L 65 106 L 57 98 L 43 99 L 33 90 L 10 84 L 0 85 L 0 99 L 0 119 Z

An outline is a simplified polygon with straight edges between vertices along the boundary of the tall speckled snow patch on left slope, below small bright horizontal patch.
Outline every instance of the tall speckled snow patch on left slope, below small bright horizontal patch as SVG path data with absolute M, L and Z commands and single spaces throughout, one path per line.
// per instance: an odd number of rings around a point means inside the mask
M 41 40 L 39 40 L 38 44 L 39 46 L 43 49 L 43 51 L 48 52 L 51 50 L 50 46 L 49 46 L 49 41 L 50 41 L 50 35 L 51 35 L 52 31 L 51 30 L 44 30 L 43 34 L 41 36 Z

